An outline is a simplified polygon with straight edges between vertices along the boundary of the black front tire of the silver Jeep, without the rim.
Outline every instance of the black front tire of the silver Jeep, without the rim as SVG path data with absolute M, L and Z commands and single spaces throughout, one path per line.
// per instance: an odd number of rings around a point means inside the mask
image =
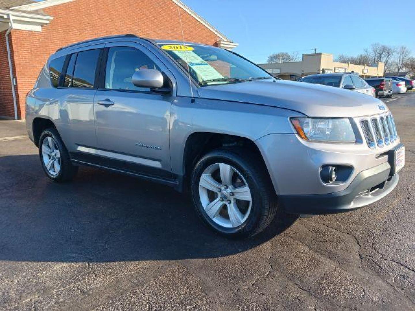
M 199 181 L 207 167 L 215 163 L 233 166 L 242 174 L 251 191 L 251 212 L 247 219 L 235 228 L 220 226 L 205 212 L 199 196 Z M 207 153 L 195 165 L 191 177 L 191 192 L 197 214 L 217 233 L 229 238 L 248 238 L 263 231 L 273 220 L 277 211 L 277 198 L 265 165 L 258 156 L 238 148 L 218 149 Z

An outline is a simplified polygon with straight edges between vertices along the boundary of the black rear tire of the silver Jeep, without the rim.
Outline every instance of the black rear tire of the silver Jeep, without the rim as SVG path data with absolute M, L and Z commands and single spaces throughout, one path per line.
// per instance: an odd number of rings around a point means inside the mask
M 43 141 L 48 137 L 53 138 L 60 153 L 61 165 L 60 165 L 59 173 L 56 175 L 52 175 L 51 173 L 49 173 L 43 160 L 43 154 L 42 154 Z M 71 163 L 68 150 L 63 144 L 63 141 L 61 137 L 59 136 L 58 131 L 56 131 L 56 129 L 54 128 L 45 129 L 40 135 L 39 158 L 40 158 L 40 163 L 43 167 L 43 170 L 46 176 L 49 177 L 54 182 L 66 182 L 66 181 L 72 180 L 73 177 L 75 177 L 76 173 L 78 172 L 78 166 L 75 166 Z

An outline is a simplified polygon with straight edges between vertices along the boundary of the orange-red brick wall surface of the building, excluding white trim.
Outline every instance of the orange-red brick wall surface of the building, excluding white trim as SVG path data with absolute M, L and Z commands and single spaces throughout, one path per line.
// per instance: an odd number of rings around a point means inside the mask
M 44 12 L 54 19 L 49 25 L 42 27 L 41 32 L 12 30 L 19 116 L 24 118 L 25 96 L 33 87 L 47 58 L 56 49 L 94 37 L 126 33 L 154 39 L 181 40 L 178 10 L 177 5 L 171 0 L 75 0 L 44 9 Z M 185 40 L 205 44 L 215 44 L 219 40 L 213 32 L 186 11 L 180 9 L 180 12 Z M 7 59 L 7 53 L 3 53 L 1 39 L 0 49 L 0 58 L 6 55 Z M 0 85 L 5 83 L 2 74 L 3 71 L 0 73 Z M 10 89 L 10 76 L 8 79 Z M 12 113 L 12 101 L 7 105 L 9 106 Z M 11 115 L 10 109 L 1 109 L 0 115 Z

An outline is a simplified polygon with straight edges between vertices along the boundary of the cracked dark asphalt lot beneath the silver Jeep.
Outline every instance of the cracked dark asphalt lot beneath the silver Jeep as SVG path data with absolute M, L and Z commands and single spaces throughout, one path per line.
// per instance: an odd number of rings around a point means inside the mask
M 0 309 L 415 310 L 415 92 L 399 97 L 391 195 L 249 241 L 213 235 L 168 187 L 90 168 L 54 184 L 30 141 L 0 139 Z M 10 123 L 0 138 L 22 135 Z

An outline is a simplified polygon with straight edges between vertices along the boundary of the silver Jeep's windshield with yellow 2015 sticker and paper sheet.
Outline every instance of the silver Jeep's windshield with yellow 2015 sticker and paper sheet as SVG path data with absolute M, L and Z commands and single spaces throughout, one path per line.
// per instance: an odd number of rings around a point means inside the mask
M 273 79 L 266 71 L 224 49 L 197 44 L 159 44 L 200 85 Z

